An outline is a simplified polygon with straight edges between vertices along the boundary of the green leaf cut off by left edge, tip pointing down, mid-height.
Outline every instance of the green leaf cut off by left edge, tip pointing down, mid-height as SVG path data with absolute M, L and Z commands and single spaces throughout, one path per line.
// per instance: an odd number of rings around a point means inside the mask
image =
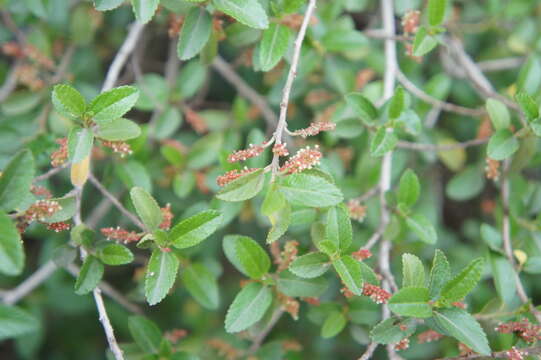
M 24 249 L 21 234 L 9 216 L 0 212 L 0 272 L 19 275 L 24 267 Z

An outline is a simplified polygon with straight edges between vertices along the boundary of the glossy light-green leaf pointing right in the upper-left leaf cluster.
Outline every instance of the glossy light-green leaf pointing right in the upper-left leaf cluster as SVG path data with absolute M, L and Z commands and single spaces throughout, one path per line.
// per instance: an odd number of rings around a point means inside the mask
M 137 88 L 120 86 L 96 96 L 88 106 L 87 113 L 92 115 L 92 120 L 97 124 L 113 121 L 126 114 L 138 98 Z

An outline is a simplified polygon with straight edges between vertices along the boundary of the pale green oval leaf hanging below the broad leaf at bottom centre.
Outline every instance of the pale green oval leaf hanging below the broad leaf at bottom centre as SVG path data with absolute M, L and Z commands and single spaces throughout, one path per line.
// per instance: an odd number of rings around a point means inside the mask
M 260 283 L 250 283 L 242 288 L 225 317 L 225 330 L 236 333 L 261 320 L 272 302 L 272 292 Z

